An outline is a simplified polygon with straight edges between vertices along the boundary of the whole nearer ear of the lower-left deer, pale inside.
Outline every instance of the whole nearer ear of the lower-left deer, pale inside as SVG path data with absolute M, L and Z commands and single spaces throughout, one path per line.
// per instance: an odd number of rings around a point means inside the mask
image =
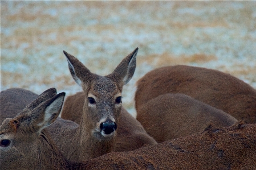
M 37 113 L 41 114 L 36 117 L 39 120 L 35 121 L 37 122 L 37 126 L 39 126 L 38 132 L 42 131 L 43 128 L 46 128 L 47 126 L 50 126 L 51 123 L 53 123 L 55 119 L 59 116 L 60 110 L 62 109 L 64 97 L 64 92 L 59 93 L 55 97 L 48 99 L 48 101 L 44 102 L 42 105 L 36 108 L 36 110 L 38 109 Z M 42 111 L 40 111 L 41 109 Z

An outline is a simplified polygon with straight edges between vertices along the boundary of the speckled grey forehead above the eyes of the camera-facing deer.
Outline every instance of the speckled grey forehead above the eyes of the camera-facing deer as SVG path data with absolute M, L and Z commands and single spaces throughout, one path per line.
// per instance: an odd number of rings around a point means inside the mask
M 115 97 L 116 94 L 121 94 L 117 88 L 116 82 L 107 77 L 100 77 L 91 86 L 89 93 L 96 97 Z

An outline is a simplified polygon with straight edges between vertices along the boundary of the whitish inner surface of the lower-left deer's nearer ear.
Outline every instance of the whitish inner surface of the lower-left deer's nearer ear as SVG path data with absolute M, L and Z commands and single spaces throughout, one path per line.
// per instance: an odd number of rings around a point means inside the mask
M 38 123 L 38 126 L 41 126 L 39 132 L 42 131 L 43 128 L 51 125 L 52 115 L 60 111 L 63 100 L 64 96 L 60 96 L 59 98 L 56 98 L 55 101 L 53 101 L 49 106 L 46 107 L 46 109 L 44 110 L 43 122 Z M 58 117 L 58 115 L 59 114 L 57 114 L 56 117 Z

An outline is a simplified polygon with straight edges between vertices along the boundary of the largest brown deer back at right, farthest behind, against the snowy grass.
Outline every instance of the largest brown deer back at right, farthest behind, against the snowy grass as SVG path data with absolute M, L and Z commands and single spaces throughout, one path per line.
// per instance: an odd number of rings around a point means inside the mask
M 256 123 L 256 90 L 224 72 L 174 65 L 148 72 L 136 82 L 136 86 L 136 110 L 162 94 L 182 93 L 216 107 L 238 120 Z

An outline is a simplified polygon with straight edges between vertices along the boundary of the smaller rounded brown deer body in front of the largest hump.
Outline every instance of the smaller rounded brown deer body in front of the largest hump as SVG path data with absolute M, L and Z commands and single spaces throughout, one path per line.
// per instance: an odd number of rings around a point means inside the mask
M 204 130 L 209 123 L 227 127 L 237 119 L 185 94 L 162 94 L 137 110 L 137 120 L 157 142 Z

